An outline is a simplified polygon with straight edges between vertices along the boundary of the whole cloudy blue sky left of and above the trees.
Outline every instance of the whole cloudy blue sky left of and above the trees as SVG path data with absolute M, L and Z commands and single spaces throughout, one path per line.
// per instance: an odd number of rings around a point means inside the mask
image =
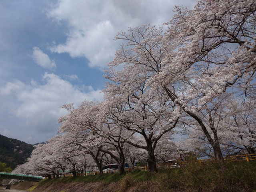
M 161 26 L 195 0 L 0 0 L 0 134 L 53 137 L 63 104 L 102 100 L 104 70 L 128 27 Z

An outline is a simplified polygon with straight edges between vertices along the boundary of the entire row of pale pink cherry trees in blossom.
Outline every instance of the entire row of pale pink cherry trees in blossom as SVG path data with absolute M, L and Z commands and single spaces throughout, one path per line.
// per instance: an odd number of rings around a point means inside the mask
M 256 153 L 256 2 L 199 0 L 175 7 L 168 28 L 120 32 L 104 101 L 84 101 L 59 119 L 17 172 L 58 175 L 117 163 L 156 163 L 192 151 L 223 161 Z M 178 136 L 184 135 L 180 140 Z

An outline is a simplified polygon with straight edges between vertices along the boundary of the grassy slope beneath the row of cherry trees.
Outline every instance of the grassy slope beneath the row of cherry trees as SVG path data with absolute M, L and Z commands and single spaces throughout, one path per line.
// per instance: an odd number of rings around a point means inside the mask
M 136 170 L 126 175 L 104 174 L 43 180 L 30 191 L 104 191 L 104 192 L 256 192 L 256 162 L 225 164 L 221 171 L 217 164 L 200 166 L 190 163 L 184 168 L 150 173 Z

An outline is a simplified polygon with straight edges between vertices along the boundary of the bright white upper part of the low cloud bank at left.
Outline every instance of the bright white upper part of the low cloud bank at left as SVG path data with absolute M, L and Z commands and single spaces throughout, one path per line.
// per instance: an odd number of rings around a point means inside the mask
M 43 76 L 43 85 L 32 84 L 25 85 L 20 81 L 8 82 L 1 88 L 1 93 L 15 94 L 20 105 L 13 110 L 16 116 L 30 118 L 32 116 L 45 116 L 46 114 L 54 115 L 57 118 L 61 113 L 58 108 L 62 104 L 74 102 L 78 106 L 84 99 L 102 100 L 101 90 L 94 90 L 91 86 L 82 89 L 73 86 L 70 82 L 61 79 L 55 74 L 45 73 Z M 23 86 L 20 89 L 21 85 Z M 16 90 L 14 92 L 14 90 Z M 19 90 L 19 91 L 17 91 Z

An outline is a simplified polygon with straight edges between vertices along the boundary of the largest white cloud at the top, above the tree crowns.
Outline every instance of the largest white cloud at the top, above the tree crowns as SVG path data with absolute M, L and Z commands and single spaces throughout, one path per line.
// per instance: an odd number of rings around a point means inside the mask
M 115 54 L 120 42 L 113 41 L 120 30 L 129 26 L 170 20 L 174 5 L 192 8 L 195 0 L 59 0 L 48 12 L 50 18 L 70 27 L 66 42 L 54 45 L 52 52 L 86 57 L 89 66 L 104 68 Z

